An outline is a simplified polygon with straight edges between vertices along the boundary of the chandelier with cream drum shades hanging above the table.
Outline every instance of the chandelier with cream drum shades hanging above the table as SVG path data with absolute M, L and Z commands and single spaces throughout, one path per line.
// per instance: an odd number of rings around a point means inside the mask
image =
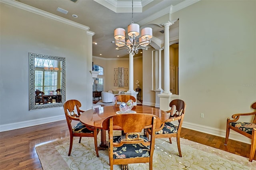
M 124 28 L 116 28 L 114 30 L 114 38 L 116 40 L 116 45 L 118 46 L 118 50 L 120 49 L 128 49 L 128 53 L 134 55 L 138 54 L 139 49 L 148 50 L 146 47 L 151 42 L 152 38 L 152 28 L 146 27 L 141 30 L 140 35 L 140 26 L 138 24 L 134 24 L 133 22 L 133 0 L 132 0 L 132 24 L 128 25 L 128 39 L 125 41 L 125 30 Z M 138 40 L 139 39 L 139 40 Z M 138 40 L 138 41 L 137 41 Z

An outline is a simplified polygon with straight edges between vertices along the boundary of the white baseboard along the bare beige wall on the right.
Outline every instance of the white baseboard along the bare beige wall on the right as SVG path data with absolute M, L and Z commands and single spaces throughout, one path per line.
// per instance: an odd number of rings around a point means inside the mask
M 178 122 L 173 122 L 173 124 L 178 125 Z M 184 121 L 182 123 L 182 127 L 196 130 L 196 131 L 203 132 L 203 133 L 207 133 L 207 134 L 212 134 L 215 136 L 220 136 L 223 138 L 226 137 L 226 130 L 222 130 L 222 129 L 218 129 L 218 128 L 207 127 L 207 126 L 184 122 Z M 242 134 L 234 132 L 232 130 L 230 130 L 229 139 L 251 144 L 250 138 L 247 138 L 246 136 L 243 136 Z

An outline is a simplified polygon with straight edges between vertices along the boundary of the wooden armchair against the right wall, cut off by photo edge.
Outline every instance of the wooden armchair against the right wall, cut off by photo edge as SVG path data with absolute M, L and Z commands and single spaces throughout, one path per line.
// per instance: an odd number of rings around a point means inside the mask
M 256 109 L 256 102 L 252 104 L 252 109 Z M 252 123 L 240 122 L 238 119 L 240 116 L 252 116 L 254 115 L 254 119 Z M 255 152 L 256 152 L 256 110 L 252 113 L 237 113 L 232 115 L 232 120 L 230 118 L 227 119 L 226 126 L 226 139 L 224 145 L 228 143 L 228 136 L 230 129 L 252 139 L 251 142 L 251 151 L 249 156 L 249 161 L 252 162 Z

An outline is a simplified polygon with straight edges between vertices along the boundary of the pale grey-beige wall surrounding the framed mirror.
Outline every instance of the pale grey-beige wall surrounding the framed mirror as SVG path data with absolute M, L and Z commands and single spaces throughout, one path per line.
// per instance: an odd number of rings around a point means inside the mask
M 92 79 L 92 35 L 3 3 L 0 17 L 1 131 L 65 119 L 62 107 L 28 110 L 29 52 L 66 57 L 66 100 L 78 99 L 82 109 L 92 108 L 92 97 L 86 97 L 92 91 L 86 86 Z

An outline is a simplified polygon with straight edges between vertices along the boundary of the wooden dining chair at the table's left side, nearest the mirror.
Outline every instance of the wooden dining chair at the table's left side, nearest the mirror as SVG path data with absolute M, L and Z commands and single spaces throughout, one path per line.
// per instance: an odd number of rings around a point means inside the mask
M 99 157 L 98 153 L 98 144 L 97 144 L 97 134 L 100 132 L 100 129 L 86 127 L 79 121 L 79 117 L 81 113 L 84 111 L 80 110 L 81 103 L 78 100 L 68 100 L 64 103 L 64 112 L 66 116 L 66 121 L 68 123 L 68 130 L 70 133 L 70 146 L 68 156 L 71 154 L 73 138 L 78 136 L 80 137 L 79 143 L 81 142 L 82 137 L 94 137 L 94 146 L 96 150 L 97 157 Z M 78 122 L 74 127 L 72 127 L 71 122 Z

